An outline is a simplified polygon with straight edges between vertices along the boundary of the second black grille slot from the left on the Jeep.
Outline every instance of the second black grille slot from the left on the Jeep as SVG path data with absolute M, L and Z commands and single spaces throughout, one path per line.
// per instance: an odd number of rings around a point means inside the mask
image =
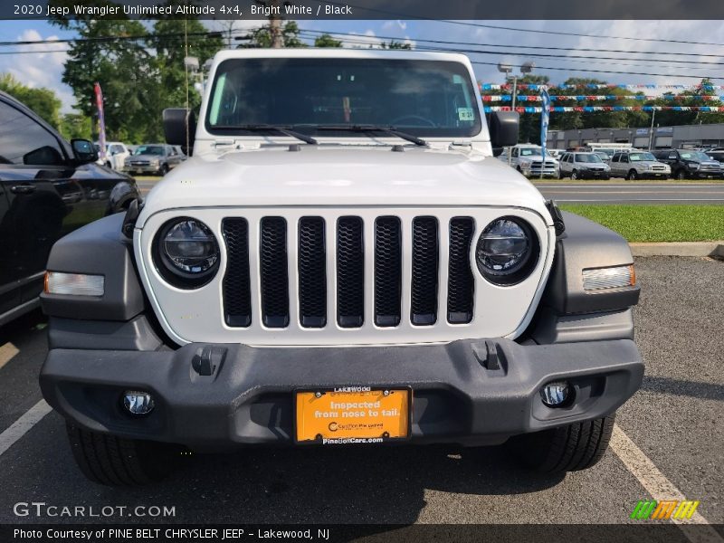
M 262 322 L 267 328 L 289 326 L 287 222 L 283 217 L 262 218 L 260 272 Z

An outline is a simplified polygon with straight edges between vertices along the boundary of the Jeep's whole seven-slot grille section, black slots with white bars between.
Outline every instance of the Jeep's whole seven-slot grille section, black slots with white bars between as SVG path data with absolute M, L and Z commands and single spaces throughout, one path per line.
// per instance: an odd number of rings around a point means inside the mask
M 289 220 L 292 227 L 281 216 L 262 216 L 253 224 L 242 217 L 222 221 L 227 326 L 250 328 L 257 311 L 257 326 L 266 329 L 329 329 L 330 319 L 338 329 L 369 329 L 370 324 L 424 329 L 441 321 L 453 326 L 472 322 L 477 275 L 471 262 L 471 216 L 384 214 L 363 220 L 309 215 Z M 252 243 L 258 243 L 258 252 Z M 252 281 L 252 271 L 259 274 L 258 281 Z M 254 289 L 259 289 L 258 298 Z

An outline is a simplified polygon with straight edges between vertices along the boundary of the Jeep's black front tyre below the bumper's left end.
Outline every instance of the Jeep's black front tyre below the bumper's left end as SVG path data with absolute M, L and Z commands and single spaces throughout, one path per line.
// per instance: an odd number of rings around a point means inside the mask
M 73 458 L 90 481 L 108 486 L 139 486 L 173 472 L 183 447 L 123 439 L 67 423 Z

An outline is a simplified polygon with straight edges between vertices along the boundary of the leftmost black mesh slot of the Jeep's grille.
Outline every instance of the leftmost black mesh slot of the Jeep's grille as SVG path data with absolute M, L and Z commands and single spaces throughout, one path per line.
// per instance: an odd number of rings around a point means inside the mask
M 228 326 L 252 324 L 252 293 L 249 284 L 249 224 L 246 219 L 224 219 L 226 274 L 224 275 L 224 321 Z

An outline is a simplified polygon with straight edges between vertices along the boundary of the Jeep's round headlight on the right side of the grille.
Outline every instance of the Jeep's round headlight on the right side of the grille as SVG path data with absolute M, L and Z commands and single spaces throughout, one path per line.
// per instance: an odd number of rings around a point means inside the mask
M 475 261 L 488 281 L 499 285 L 518 283 L 538 262 L 538 237 L 521 219 L 500 217 L 482 231 Z

